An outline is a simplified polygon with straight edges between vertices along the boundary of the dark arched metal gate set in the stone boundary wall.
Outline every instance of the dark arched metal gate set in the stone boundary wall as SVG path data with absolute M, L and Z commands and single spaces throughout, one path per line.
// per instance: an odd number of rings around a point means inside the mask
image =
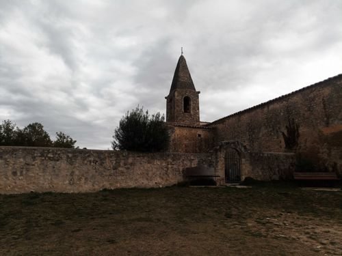
M 228 148 L 224 157 L 226 182 L 241 182 L 240 162 L 239 152 L 233 148 Z

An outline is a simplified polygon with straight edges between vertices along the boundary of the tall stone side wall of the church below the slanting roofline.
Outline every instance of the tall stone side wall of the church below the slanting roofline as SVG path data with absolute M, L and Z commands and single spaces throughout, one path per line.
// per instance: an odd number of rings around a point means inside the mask
M 342 173 L 342 75 L 218 119 L 215 145 L 241 141 L 252 152 L 300 152 L 320 171 Z M 282 135 L 298 127 L 298 145 Z M 290 132 L 291 133 L 291 132 Z

